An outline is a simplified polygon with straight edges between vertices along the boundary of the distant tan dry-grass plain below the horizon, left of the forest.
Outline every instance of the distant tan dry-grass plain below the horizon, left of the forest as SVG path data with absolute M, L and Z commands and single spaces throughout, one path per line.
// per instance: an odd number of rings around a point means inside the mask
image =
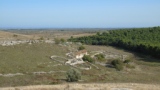
M 26 39 L 39 39 L 41 37 L 45 39 L 63 38 L 69 39 L 73 37 L 91 36 L 95 35 L 95 32 L 85 32 L 85 31 L 57 31 L 57 30 L 27 30 L 27 31 L 0 31 L 0 40 L 26 40 Z M 15 35 L 17 35 L 15 37 Z

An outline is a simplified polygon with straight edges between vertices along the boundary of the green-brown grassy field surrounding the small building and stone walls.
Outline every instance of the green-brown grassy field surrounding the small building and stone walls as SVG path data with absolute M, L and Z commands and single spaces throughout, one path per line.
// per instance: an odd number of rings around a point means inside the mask
M 78 47 L 76 44 L 72 47 Z M 92 66 L 91 70 L 80 70 L 82 80 L 79 83 L 149 83 L 160 84 L 160 63 L 147 62 L 146 57 L 139 57 L 131 52 L 116 49 L 109 46 L 88 46 L 89 52 L 105 50 L 113 53 L 125 54 L 133 60 L 135 69 L 124 69 L 117 71 L 95 64 L 100 69 Z M 49 85 L 65 83 L 66 73 L 70 66 L 60 65 L 50 59 L 51 55 L 63 56 L 68 52 L 67 46 L 56 44 L 20 44 L 15 46 L 0 46 L 0 74 L 16 74 L 17 76 L 0 76 L 0 86 L 26 86 L 26 85 Z M 103 61 L 103 63 L 107 62 Z M 45 73 L 44 73 L 45 72 Z

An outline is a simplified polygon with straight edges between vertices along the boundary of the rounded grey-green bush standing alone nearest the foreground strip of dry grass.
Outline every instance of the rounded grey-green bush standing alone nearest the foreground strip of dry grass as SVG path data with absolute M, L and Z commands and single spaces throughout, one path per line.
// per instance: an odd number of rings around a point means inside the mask
M 79 79 L 81 79 L 81 74 L 79 71 L 75 70 L 75 69 L 70 69 L 67 71 L 67 81 L 68 82 L 76 82 Z

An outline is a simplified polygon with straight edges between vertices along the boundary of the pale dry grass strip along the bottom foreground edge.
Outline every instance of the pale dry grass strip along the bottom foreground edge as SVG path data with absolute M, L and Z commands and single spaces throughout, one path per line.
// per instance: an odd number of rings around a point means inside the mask
M 137 83 L 104 83 L 104 84 L 59 84 L 7 87 L 0 90 L 159 90 L 160 85 Z

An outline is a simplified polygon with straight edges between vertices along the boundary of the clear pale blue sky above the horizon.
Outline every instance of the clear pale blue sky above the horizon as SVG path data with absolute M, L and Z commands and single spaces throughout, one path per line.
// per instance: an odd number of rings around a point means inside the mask
M 0 0 L 0 28 L 160 26 L 160 0 Z

